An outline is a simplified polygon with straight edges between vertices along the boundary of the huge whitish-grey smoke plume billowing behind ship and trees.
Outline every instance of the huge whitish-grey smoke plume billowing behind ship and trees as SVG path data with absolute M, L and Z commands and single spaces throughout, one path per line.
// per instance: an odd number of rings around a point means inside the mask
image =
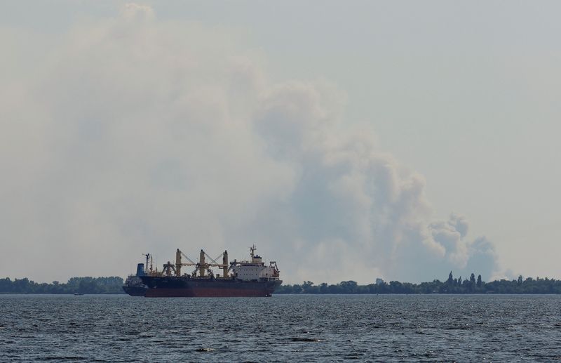
M 0 275 L 126 275 L 142 252 L 253 243 L 288 282 L 497 270 L 464 217 L 431 220 L 422 176 L 344 124 L 342 93 L 268 81 L 227 29 L 129 4 L 29 61 L 38 39 L 0 60 Z

